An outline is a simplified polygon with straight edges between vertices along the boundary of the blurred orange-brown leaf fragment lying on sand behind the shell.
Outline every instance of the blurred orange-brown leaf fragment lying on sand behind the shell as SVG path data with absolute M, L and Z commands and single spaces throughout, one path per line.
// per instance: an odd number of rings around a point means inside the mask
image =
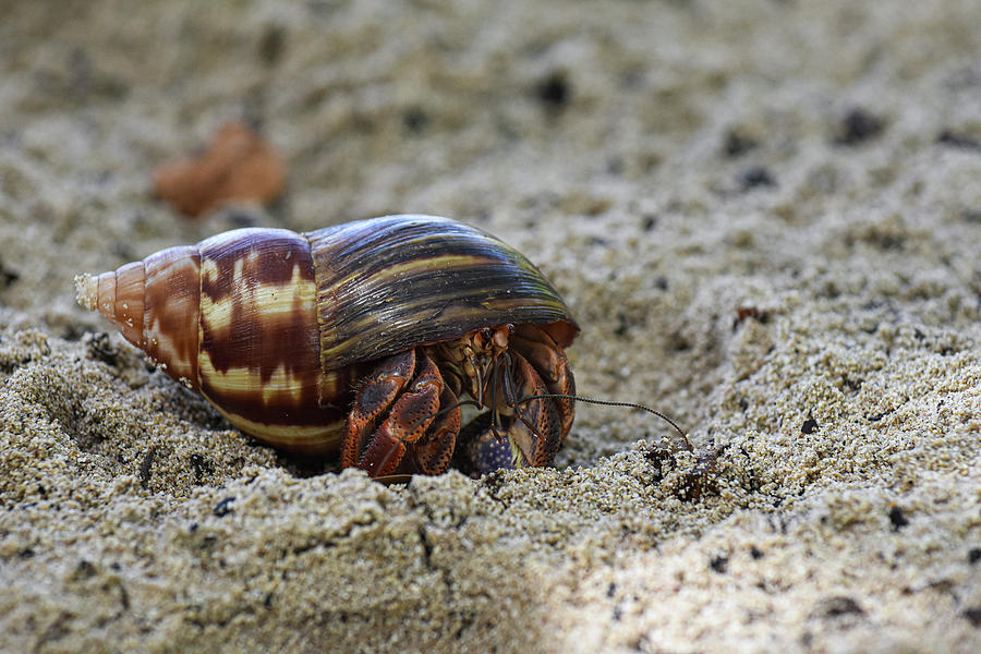
M 154 192 L 192 217 L 233 201 L 267 204 L 282 192 L 286 165 L 242 121 L 223 124 L 198 156 L 159 166 Z

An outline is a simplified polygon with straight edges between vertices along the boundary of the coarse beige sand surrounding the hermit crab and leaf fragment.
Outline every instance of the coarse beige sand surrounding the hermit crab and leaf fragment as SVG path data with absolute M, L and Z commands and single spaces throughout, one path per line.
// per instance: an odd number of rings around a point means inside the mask
M 532 4 L 532 7 L 526 7 Z M 981 4 L 20 2 L 0 23 L 0 646 L 981 650 Z M 149 193 L 225 121 L 268 211 Z M 72 277 L 451 216 L 583 327 L 552 469 L 386 487 L 231 429 Z

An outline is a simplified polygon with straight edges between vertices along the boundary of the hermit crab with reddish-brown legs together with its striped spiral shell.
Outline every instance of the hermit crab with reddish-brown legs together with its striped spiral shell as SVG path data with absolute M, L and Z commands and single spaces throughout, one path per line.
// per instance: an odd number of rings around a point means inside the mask
M 572 425 L 569 307 L 453 220 L 239 229 L 75 282 L 237 428 L 371 476 L 548 465 Z

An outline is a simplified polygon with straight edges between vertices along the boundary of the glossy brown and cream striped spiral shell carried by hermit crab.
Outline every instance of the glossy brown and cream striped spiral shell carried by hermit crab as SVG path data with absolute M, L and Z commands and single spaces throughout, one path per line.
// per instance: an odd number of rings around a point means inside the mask
M 523 255 L 432 216 L 240 229 L 76 284 L 232 425 L 299 452 L 338 449 L 373 361 L 488 326 L 538 325 L 561 348 L 579 331 Z

